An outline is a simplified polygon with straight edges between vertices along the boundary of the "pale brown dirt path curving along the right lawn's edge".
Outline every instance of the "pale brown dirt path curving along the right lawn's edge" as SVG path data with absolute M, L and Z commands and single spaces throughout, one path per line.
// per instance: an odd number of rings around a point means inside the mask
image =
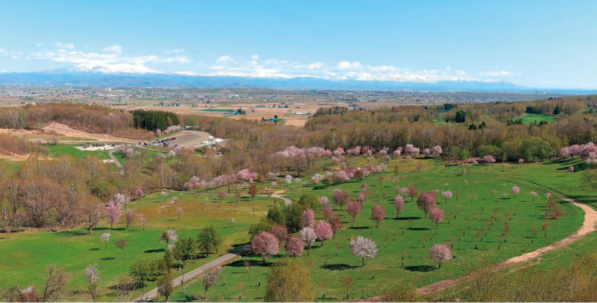
M 568 237 L 565 237 L 558 242 L 553 243 L 552 245 L 545 246 L 543 248 L 537 249 L 536 251 L 527 252 L 523 255 L 515 256 L 513 258 L 507 259 L 506 261 L 500 262 L 494 265 L 494 268 L 501 268 L 507 267 L 513 264 L 530 261 L 532 259 L 537 258 L 538 256 L 543 255 L 546 252 L 554 251 L 556 249 L 565 248 L 566 246 L 574 243 L 580 239 L 582 239 L 586 234 L 592 233 L 596 230 L 595 224 L 597 223 L 597 211 L 592 209 L 588 205 L 584 205 L 578 202 L 575 202 L 572 199 L 568 199 L 567 197 L 560 197 L 559 199 L 564 200 L 572 205 L 576 205 L 579 208 L 583 209 L 584 211 L 584 222 L 580 228 L 576 231 L 576 233 L 571 234 Z M 439 292 L 441 290 L 456 286 L 458 283 L 463 282 L 464 280 L 470 279 L 473 276 L 473 273 L 465 274 L 464 276 L 454 277 L 447 280 L 442 280 L 427 286 L 423 286 L 417 289 L 417 292 L 421 295 L 430 295 L 431 293 Z M 373 298 L 366 298 L 359 300 L 360 302 L 383 302 L 383 296 L 376 296 Z M 359 302 L 356 301 L 356 302 Z

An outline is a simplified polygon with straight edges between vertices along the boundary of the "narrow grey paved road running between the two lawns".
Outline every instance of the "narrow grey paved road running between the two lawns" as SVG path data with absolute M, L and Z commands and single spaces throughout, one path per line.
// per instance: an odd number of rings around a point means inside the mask
M 116 162 L 118 163 L 118 162 Z M 193 193 L 192 191 L 176 191 L 177 193 L 187 193 L 187 194 L 197 194 L 197 195 L 203 195 L 203 196 L 217 196 L 217 194 L 212 194 L 212 193 Z M 278 192 L 276 192 L 278 193 Z M 226 196 L 234 196 L 233 194 L 226 194 Z M 248 194 L 241 194 L 242 197 L 250 197 L 250 195 Z M 257 194 L 256 197 L 267 197 L 264 194 Z M 282 197 L 279 196 L 278 194 L 272 194 L 271 196 L 272 198 L 275 199 L 282 199 L 284 200 L 284 204 L 285 205 L 291 205 L 293 203 L 292 200 L 288 199 L 287 197 Z M 241 254 L 238 251 L 233 251 L 230 253 L 226 253 L 226 255 L 220 256 L 217 259 L 214 259 L 210 262 L 207 262 L 191 271 L 189 271 L 188 273 L 184 274 L 184 280 L 185 281 L 190 281 L 193 278 L 199 276 L 202 273 L 205 273 L 205 271 L 210 270 L 211 268 L 217 267 L 219 265 L 224 265 L 229 263 L 230 261 L 232 261 L 233 259 L 236 258 L 240 258 Z M 172 280 L 172 285 L 174 287 L 176 286 L 180 286 L 180 280 L 177 279 L 173 279 Z M 143 293 L 140 296 L 138 296 L 137 298 L 133 299 L 133 302 L 146 302 L 149 301 L 150 299 L 155 298 L 156 296 L 158 296 L 158 289 L 154 288 L 152 290 L 149 290 L 149 292 Z

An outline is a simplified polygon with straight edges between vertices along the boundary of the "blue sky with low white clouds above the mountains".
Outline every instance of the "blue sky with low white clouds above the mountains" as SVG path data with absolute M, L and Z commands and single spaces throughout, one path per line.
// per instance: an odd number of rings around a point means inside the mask
M 0 1 L 0 70 L 597 88 L 597 1 Z

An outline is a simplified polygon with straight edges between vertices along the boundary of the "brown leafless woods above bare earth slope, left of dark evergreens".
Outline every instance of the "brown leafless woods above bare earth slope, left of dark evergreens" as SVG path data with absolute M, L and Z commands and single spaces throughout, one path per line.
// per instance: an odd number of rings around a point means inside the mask
M 0 128 L 44 128 L 50 122 L 96 134 L 142 140 L 152 138 L 150 132 L 135 129 L 131 113 L 108 107 L 64 103 L 0 107 Z

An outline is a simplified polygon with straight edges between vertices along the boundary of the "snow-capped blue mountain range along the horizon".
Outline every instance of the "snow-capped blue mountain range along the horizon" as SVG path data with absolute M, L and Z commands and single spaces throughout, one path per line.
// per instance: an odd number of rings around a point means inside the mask
M 43 72 L 0 70 L 0 84 L 73 86 L 171 86 L 290 89 L 413 89 L 430 91 L 529 91 L 496 80 L 442 75 L 372 75 L 352 73 L 339 78 L 284 73 L 220 71 L 165 73 L 143 64 L 79 64 Z

